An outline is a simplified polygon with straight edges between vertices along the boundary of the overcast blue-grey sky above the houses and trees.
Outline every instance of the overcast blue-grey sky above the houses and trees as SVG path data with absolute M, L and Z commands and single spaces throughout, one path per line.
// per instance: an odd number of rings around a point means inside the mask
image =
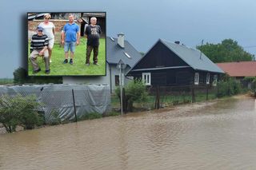
M 158 38 L 190 47 L 232 38 L 256 54 L 254 0 L 1 0 L 0 78 L 13 77 L 26 60 L 26 12 L 106 11 L 107 36 L 125 34 L 138 51 L 146 52 Z M 254 47 L 251 47 L 254 46 Z M 250 48 L 248 48 L 250 47 Z

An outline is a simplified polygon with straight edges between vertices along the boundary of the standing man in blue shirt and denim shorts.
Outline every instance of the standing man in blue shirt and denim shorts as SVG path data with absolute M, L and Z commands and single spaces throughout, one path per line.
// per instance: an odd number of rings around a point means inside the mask
M 74 16 L 72 14 L 69 15 L 69 22 L 63 28 L 62 31 L 62 44 L 64 44 L 65 51 L 65 60 L 64 64 L 68 62 L 69 50 L 70 50 L 70 64 L 73 65 L 74 59 L 74 49 L 75 45 L 79 44 L 79 26 L 74 23 Z

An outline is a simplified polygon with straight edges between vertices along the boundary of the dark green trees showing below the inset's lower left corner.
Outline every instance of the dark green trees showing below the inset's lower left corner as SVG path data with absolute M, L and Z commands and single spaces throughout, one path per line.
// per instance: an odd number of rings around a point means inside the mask
M 26 69 L 19 67 L 14 70 L 14 84 L 22 85 L 25 83 L 33 83 L 33 84 L 62 84 L 62 77 L 29 77 L 27 75 Z

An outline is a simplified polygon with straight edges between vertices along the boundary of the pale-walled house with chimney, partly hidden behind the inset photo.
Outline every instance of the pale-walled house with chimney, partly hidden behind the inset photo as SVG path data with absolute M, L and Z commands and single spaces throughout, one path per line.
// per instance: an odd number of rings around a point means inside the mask
M 106 37 L 106 76 L 101 77 L 63 77 L 63 84 L 98 84 L 110 85 L 110 93 L 119 85 L 118 62 L 126 64 L 126 74 L 142 58 L 130 42 L 125 40 L 124 34 L 118 34 L 118 38 Z M 85 69 L 90 69 L 85 66 Z M 126 77 L 126 84 L 132 77 Z

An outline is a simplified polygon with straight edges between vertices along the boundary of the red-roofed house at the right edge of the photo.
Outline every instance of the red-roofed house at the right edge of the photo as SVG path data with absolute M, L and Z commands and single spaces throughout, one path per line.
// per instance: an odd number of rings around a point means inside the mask
M 216 63 L 230 77 L 236 78 L 242 85 L 251 88 L 251 82 L 244 81 L 245 77 L 256 77 L 256 61 L 237 61 Z

